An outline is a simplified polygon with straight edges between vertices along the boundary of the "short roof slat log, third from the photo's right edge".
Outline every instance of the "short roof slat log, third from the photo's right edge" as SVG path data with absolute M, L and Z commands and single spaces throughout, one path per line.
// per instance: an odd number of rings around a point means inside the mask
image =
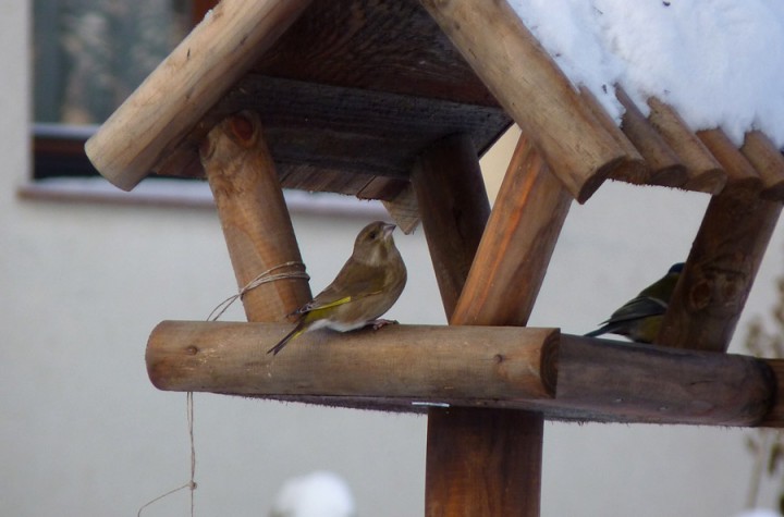
M 648 99 L 648 121 L 686 165 L 688 177 L 679 187 L 708 194 L 720 193 L 726 183 L 726 173 L 713 155 L 671 106 L 656 97 Z

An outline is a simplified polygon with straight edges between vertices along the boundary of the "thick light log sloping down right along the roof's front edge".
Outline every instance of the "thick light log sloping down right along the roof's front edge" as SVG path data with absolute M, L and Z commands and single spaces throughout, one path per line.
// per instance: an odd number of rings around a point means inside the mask
M 420 0 L 499 103 L 535 137 L 580 202 L 620 167 L 640 167 L 586 106 L 505 0 Z

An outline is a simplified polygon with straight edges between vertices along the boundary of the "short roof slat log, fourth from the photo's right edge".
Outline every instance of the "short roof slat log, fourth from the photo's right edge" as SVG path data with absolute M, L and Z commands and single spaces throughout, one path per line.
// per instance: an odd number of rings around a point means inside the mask
M 624 107 L 621 130 L 626 137 L 635 145 L 645 159 L 649 174 L 648 177 L 620 177 L 613 175 L 613 180 L 623 180 L 629 183 L 648 183 L 677 187 L 686 180 L 686 167 L 681 163 L 675 151 L 664 141 L 664 138 L 651 126 L 637 104 L 629 98 L 621 86 L 615 87 L 618 102 Z

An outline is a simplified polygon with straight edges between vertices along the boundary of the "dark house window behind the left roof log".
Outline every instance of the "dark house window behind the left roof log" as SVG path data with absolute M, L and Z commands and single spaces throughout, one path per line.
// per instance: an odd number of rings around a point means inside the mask
M 185 37 L 206 3 L 34 0 L 35 180 L 98 175 L 84 143 Z

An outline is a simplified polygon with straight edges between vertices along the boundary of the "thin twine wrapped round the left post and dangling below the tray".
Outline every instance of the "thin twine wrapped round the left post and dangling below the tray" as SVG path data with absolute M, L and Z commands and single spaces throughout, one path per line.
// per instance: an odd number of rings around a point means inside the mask
M 272 274 L 274 271 L 278 271 L 279 269 L 283 268 L 294 268 L 299 267 L 303 269 L 303 271 L 290 271 L 286 273 L 277 273 Z M 305 279 L 310 280 L 310 276 L 304 271 L 305 264 L 294 260 L 290 262 L 283 262 L 281 264 L 274 266 L 267 271 L 261 272 L 258 274 L 255 279 L 253 279 L 250 282 L 248 282 L 243 288 L 240 290 L 240 292 L 235 295 L 232 295 L 218 304 L 218 306 L 212 309 L 212 312 L 209 313 L 207 317 L 207 321 L 216 321 L 218 318 L 220 318 L 223 312 L 226 311 L 231 305 L 236 301 L 237 299 L 242 298 L 245 293 L 247 293 L 250 290 L 254 290 L 258 287 L 261 284 L 266 284 L 268 282 L 274 282 L 278 280 L 285 280 L 285 279 Z M 193 421 L 194 421 L 194 404 L 193 404 L 193 392 L 187 392 L 187 396 L 185 398 L 186 404 L 186 410 L 187 410 L 187 422 L 188 422 L 188 436 L 191 439 L 191 480 L 183 484 L 182 487 L 177 487 L 174 490 L 170 490 L 169 492 L 161 494 L 157 496 L 156 498 L 148 501 L 145 503 L 136 514 L 136 517 L 142 517 L 142 512 L 149 505 L 157 503 L 158 501 L 168 497 L 169 495 L 179 492 L 181 490 L 191 489 L 191 517 L 194 517 L 194 491 L 196 490 L 196 446 L 194 445 L 194 433 L 193 433 Z

